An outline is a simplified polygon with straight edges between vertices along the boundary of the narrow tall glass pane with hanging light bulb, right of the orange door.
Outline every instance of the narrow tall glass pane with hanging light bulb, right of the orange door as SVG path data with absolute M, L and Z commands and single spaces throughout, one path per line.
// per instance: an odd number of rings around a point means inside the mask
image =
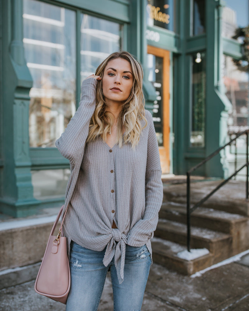
M 192 109 L 191 135 L 192 147 L 205 146 L 205 106 L 206 106 L 206 62 L 205 54 L 192 56 Z

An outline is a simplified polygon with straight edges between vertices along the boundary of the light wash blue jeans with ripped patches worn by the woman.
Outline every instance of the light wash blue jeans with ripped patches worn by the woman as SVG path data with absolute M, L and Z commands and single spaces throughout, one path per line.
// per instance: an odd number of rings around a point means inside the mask
M 103 264 L 106 249 L 97 252 L 75 242 L 71 244 L 71 288 L 66 311 L 96 311 L 110 267 L 114 311 L 140 311 L 151 265 L 146 245 L 126 245 L 124 281 L 119 284 L 114 259 Z

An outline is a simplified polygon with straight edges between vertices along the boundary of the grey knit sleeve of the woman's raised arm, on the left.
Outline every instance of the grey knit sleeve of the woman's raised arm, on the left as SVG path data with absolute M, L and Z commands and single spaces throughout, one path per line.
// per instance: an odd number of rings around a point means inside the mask
M 71 169 L 83 156 L 89 123 L 96 106 L 96 84 L 95 78 L 88 78 L 82 82 L 79 108 L 68 123 L 65 132 L 55 142 L 59 152 L 70 161 Z

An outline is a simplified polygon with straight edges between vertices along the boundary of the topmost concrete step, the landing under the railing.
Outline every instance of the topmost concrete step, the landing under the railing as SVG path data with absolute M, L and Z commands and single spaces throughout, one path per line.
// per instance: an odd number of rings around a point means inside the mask
M 190 184 L 191 203 L 199 202 L 214 190 L 220 182 L 220 180 L 192 182 Z M 186 205 L 186 183 L 164 184 L 163 193 L 163 202 L 175 202 Z M 204 202 L 202 207 L 249 216 L 249 201 L 246 200 L 246 183 L 230 180 Z

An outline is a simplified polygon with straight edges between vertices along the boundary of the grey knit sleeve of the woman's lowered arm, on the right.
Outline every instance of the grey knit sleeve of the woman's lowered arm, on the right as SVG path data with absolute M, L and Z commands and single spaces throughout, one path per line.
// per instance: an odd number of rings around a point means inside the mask
M 142 246 L 153 237 L 158 222 L 158 212 L 162 205 L 162 170 L 159 150 L 152 115 L 147 116 L 149 133 L 147 149 L 147 165 L 145 174 L 145 212 L 130 230 L 127 244 Z

